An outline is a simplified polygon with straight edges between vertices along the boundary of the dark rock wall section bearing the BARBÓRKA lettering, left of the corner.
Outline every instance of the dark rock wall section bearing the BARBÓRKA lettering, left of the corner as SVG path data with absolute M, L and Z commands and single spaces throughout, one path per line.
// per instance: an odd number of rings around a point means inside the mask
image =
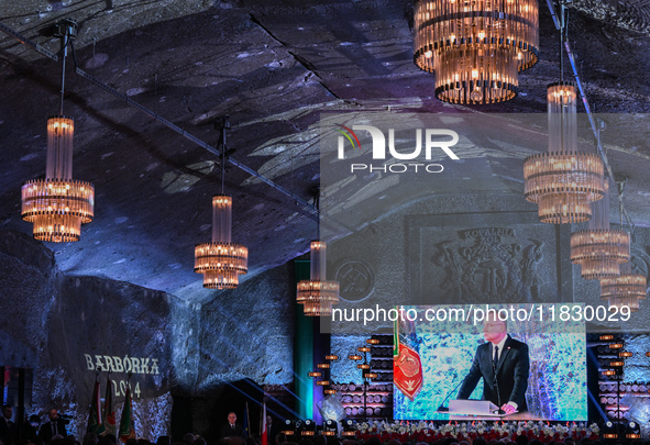
M 174 391 L 196 376 L 196 308 L 165 292 L 57 272 L 54 255 L 18 232 L 0 232 L 0 365 L 33 370 L 27 414 L 53 407 L 86 429 L 96 377 L 113 387 L 118 423 L 128 386 L 139 435 L 167 434 Z M 16 403 L 16 400 L 11 400 Z

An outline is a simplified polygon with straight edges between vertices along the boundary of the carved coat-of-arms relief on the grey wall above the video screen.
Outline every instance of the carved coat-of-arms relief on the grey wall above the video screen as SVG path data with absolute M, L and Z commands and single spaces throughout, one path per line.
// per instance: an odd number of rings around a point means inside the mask
M 456 302 L 540 301 L 544 242 L 517 236 L 514 229 L 456 232 L 436 244 L 431 262 L 444 270 L 440 288 Z

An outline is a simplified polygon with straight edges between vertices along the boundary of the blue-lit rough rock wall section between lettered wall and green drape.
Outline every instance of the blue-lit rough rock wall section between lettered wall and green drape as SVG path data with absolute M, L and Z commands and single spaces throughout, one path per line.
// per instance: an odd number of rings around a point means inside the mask
M 198 390 L 250 378 L 294 381 L 294 289 L 284 265 L 223 291 L 201 310 Z

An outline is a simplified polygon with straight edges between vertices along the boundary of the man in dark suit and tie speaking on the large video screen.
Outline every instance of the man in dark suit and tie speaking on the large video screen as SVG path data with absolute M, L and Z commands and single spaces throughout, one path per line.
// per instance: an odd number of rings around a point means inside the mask
M 483 336 L 487 343 L 476 348 L 472 368 L 461 385 L 458 399 L 470 398 L 483 378 L 483 400 L 489 400 L 506 414 L 527 411 L 528 345 L 509 336 L 506 322 L 499 320 L 495 312 L 488 312 Z

